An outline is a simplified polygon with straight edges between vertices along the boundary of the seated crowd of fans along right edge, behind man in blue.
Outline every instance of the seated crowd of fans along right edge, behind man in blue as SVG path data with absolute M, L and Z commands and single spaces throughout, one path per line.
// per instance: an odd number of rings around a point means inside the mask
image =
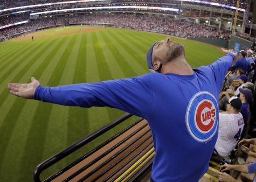
M 228 162 L 233 161 L 233 165 L 220 167 L 219 181 L 252 181 L 256 172 L 256 138 L 245 139 L 255 136 L 255 51 L 253 46 L 240 50 L 234 65 L 229 69 L 231 73 L 225 79 L 223 92 L 220 92 L 219 135 L 214 154 L 224 157 L 226 163 L 234 148 L 240 148 L 244 153 L 237 152 L 237 156 L 233 156 Z M 225 173 L 230 170 L 241 172 L 237 180 L 233 178 L 235 176 Z

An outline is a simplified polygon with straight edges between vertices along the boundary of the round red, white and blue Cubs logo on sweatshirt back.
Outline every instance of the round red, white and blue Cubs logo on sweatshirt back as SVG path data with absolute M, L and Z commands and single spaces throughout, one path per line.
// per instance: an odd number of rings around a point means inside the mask
M 218 104 L 210 92 L 198 92 L 186 109 L 186 128 L 198 142 L 207 142 L 218 129 Z

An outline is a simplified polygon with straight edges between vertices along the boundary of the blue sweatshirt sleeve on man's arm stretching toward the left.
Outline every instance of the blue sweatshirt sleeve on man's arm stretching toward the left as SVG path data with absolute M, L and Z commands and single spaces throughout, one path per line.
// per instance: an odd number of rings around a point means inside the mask
M 39 86 L 34 99 L 64 106 L 107 106 L 146 118 L 152 111 L 150 75 L 58 87 Z

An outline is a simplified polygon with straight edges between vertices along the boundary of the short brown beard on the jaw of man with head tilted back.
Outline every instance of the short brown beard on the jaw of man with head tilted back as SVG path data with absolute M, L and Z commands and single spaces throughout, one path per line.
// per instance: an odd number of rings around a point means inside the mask
M 173 43 L 167 52 L 167 61 L 170 62 L 184 54 L 184 45 Z

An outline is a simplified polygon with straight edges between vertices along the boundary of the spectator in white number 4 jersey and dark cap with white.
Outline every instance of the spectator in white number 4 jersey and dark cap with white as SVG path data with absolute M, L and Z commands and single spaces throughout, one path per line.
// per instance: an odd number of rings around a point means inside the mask
M 219 113 L 219 135 L 215 152 L 220 156 L 228 156 L 240 139 L 244 128 L 244 119 L 240 113 L 241 106 L 241 100 L 232 96 L 227 103 L 227 113 Z

